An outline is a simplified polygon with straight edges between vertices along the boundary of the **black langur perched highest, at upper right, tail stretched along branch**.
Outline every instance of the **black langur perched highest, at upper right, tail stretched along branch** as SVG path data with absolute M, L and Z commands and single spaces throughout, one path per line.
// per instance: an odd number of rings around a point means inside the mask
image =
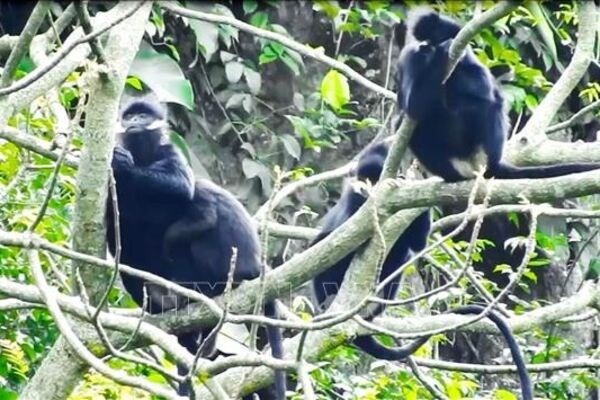
M 448 50 L 460 26 L 429 9 L 409 13 L 396 74 L 398 105 L 416 121 L 410 148 L 447 182 L 474 177 L 549 178 L 600 167 L 598 163 L 517 167 L 502 161 L 508 133 L 504 97 L 490 71 L 467 48 L 446 83 Z

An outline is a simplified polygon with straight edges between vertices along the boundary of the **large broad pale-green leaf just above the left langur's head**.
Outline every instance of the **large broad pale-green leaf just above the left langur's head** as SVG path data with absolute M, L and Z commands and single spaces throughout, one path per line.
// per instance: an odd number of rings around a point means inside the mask
M 161 102 L 177 103 L 193 109 L 192 85 L 185 79 L 179 65 L 169 56 L 156 52 L 146 42 L 142 42 L 129 75 L 138 77 L 148 85 Z

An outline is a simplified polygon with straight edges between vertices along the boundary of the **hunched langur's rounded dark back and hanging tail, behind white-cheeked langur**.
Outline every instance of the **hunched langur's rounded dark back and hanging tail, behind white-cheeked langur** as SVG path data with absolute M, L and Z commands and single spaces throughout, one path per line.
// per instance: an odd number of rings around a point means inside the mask
M 166 230 L 163 246 L 170 263 L 178 266 L 176 280 L 193 282 L 196 290 L 210 297 L 225 289 L 233 247 L 234 284 L 260 276 L 260 241 L 252 217 L 231 193 L 205 179 L 196 181 L 193 200 Z M 266 302 L 264 313 L 277 318 L 275 302 Z M 202 336 L 211 330 L 203 329 Z M 283 358 L 281 330 L 273 326 L 265 330 L 273 357 Z M 214 343 L 206 347 L 210 352 Z M 275 371 L 274 383 L 275 398 L 285 399 L 284 371 Z

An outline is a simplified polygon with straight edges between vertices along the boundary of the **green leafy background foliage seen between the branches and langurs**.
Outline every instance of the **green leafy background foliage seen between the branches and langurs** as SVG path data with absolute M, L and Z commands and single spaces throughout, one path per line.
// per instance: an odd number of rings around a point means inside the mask
M 235 17 L 252 26 L 285 34 L 393 90 L 393 62 L 399 52 L 392 40 L 393 27 L 405 19 L 412 3 L 415 2 L 400 5 L 389 1 L 245 0 L 190 3 L 186 7 Z M 492 3 L 450 1 L 432 6 L 467 22 Z M 102 11 L 102 5 L 90 4 L 90 7 L 93 12 Z M 577 2 L 526 2 L 473 41 L 477 57 L 501 82 L 515 131 L 526 123 L 568 64 L 577 41 L 577 7 Z M 33 64 L 29 57 L 24 58 L 17 77 L 31 72 Z M 59 88 L 60 105 L 73 118 L 82 116 L 87 97 L 93 96 L 86 81 L 93 68 L 86 65 L 76 70 Z M 558 120 L 600 100 L 599 77 L 600 63 L 596 58 L 561 109 Z M 144 42 L 127 80 L 127 90 L 132 93 L 148 88 L 161 101 L 169 103 L 172 138 L 184 150 L 195 174 L 210 177 L 228 188 L 251 213 L 282 185 L 350 161 L 374 137 L 391 134 L 396 122 L 392 117 L 394 101 L 369 91 L 323 63 L 303 58 L 276 41 L 253 36 L 231 25 L 181 18 L 158 5 L 153 8 Z M 595 140 L 600 128 L 597 117 L 597 113 L 591 114 L 572 129 L 554 134 L 554 138 Z M 56 143 L 59 148 L 65 145 L 59 121 L 49 112 L 44 98 L 19 110 L 8 125 Z M 67 138 L 71 154 L 77 154 L 81 146 L 80 129 L 74 131 L 74 137 Z M 405 167 L 409 165 L 405 163 Z M 10 141 L 0 141 L 2 230 L 25 232 L 35 222 L 35 233 L 54 244 L 69 246 L 75 170 L 61 166 L 53 187 L 53 169 L 51 160 Z M 272 218 L 284 224 L 315 227 L 341 189 L 340 179 L 305 187 L 284 200 L 273 211 Z M 50 190 L 47 209 L 38 223 L 40 207 Z M 571 201 L 568 206 L 594 209 L 596 204 L 596 198 L 590 196 Z M 436 210 L 437 216 L 444 213 L 448 210 Z M 519 246 L 527 235 L 528 220 L 508 214 L 497 223 L 507 232 L 504 240 L 494 242 L 493 237 L 485 236 L 484 229 L 472 254 L 475 265 L 488 268 L 479 269 L 479 275 L 482 285 L 492 293 L 500 290 L 502 279 L 512 273 L 511 260 L 522 257 Z M 535 309 L 573 293 L 586 274 L 597 276 L 600 267 L 597 233 L 594 220 L 542 218 L 535 233 L 535 257 L 515 292 L 518 298 L 510 306 L 518 313 Z M 404 280 L 409 284 L 403 287 L 401 296 L 414 295 L 418 285 L 437 284 L 440 273 L 432 267 L 432 260 L 450 270 L 460 270 L 460 262 L 465 262 L 468 256 L 468 240 L 468 235 L 449 240 L 446 251 L 438 249 L 431 254 L 432 259 L 408 269 Z M 271 236 L 269 264 L 277 266 L 306 246 L 303 240 Z M 51 283 L 68 293 L 69 263 L 50 253 L 42 254 L 42 265 Z M 486 264 L 487 257 L 491 261 Z M 553 266 L 563 269 L 567 266 L 568 278 L 557 281 Z M 31 282 L 26 254 L 18 248 L 0 246 L 0 276 L 20 283 Z M 307 291 L 300 290 L 289 305 L 298 315 L 309 318 L 312 309 L 307 296 Z M 391 313 L 409 315 L 444 310 L 474 297 L 470 282 L 463 278 L 452 290 L 420 301 L 413 308 L 396 307 Z M 109 302 L 112 306 L 133 307 L 118 285 L 111 291 Z M 592 325 L 588 324 L 588 329 Z M 18 391 L 35 373 L 57 336 L 52 318 L 43 309 L 0 311 L 0 400 L 17 398 Z M 483 353 L 489 345 L 482 338 L 465 342 L 458 334 L 436 336 L 417 355 L 438 358 L 450 354 L 457 361 L 510 362 L 510 356 L 497 346 L 482 358 L 452 355 L 453 346 L 459 346 L 452 340 L 456 343 L 462 340 L 461 343 L 468 343 L 463 347 L 471 346 L 471 350 Z M 590 335 L 558 327 L 521 335 L 521 344 L 531 363 L 582 354 L 588 351 L 591 340 Z M 172 360 L 162 362 L 172 367 Z M 118 359 L 111 360 L 110 365 L 134 375 L 148 376 L 154 382 L 164 382 L 160 374 L 140 365 Z M 314 367 L 311 377 L 319 398 L 435 398 L 406 364 L 372 360 L 351 346 L 329 352 Z M 517 398 L 512 375 L 490 375 L 483 379 L 474 373 L 422 370 L 449 399 L 481 394 L 499 400 Z M 590 370 L 573 369 L 536 375 L 536 382 L 540 398 L 560 400 L 590 398 L 600 381 Z M 293 398 L 301 395 L 300 391 Z M 150 397 L 90 372 L 71 399 Z

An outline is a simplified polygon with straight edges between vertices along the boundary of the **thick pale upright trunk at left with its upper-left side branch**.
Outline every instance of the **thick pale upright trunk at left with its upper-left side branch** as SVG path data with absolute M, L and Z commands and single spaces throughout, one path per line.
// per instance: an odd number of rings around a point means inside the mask
M 109 18 L 103 20 L 97 17 L 94 21 L 102 26 L 98 28 L 97 32 L 100 32 L 107 27 L 115 26 L 117 21 L 129 18 L 127 24 L 119 24 L 109 33 L 106 49 L 107 61 L 111 69 L 102 82 L 96 80 L 95 87 L 92 89 L 94 96 L 88 106 L 86 118 L 85 145 L 77 178 L 78 193 L 73 238 L 75 249 L 90 254 L 100 255 L 104 251 L 103 213 L 98 210 L 104 209 L 106 201 L 112 124 L 116 120 L 118 101 L 129 65 L 135 56 L 133 50 L 139 45 L 151 5 L 150 2 L 143 3 L 140 8 L 140 3 L 120 3 L 106 13 Z M 59 50 L 55 57 L 64 52 L 64 58 L 57 63 L 56 67 L 51 68 L 47 73 L 44 72 L 31 86 L 1 98 L 0 106 L 7 102 L 4 105 L 9 108 L 10 113 L 24 105 L 26 99 L 41 94 L 38 90 L 49 90 L 61 82 L 89 54 L 89 46 L 80 45 L 83 44 L 79 42 L 80 38 L 80 32 L 72 34 L 70 40 L 67 40 L 70 43 L 65 43 L 64 46 L 64 49 L 71 48 L 72 51 Z M 6 115 L 10 114 L 4 114 Z M 1 121 L 3 118 L 0 118 Z M 76 268 L 78 266 L 75 265 Z M 85 270 L 83 272 L 85 273 Z M 89 292 L 93 297 L 101 295 L 99 287 L 105 286 L 98 282 L 101 277 L 101 274 L 90 274 L 87 278 L 84 277 L 86 283 L 92 286 Z M 73 357 L 70 343 L 59 338 L 36 374 L 28 382 L 21 398 L 66 398 L 81 379 L 86 368 L 86 363 Z M 57 377 L 57 374 L 60 374 L 60 377 Z

